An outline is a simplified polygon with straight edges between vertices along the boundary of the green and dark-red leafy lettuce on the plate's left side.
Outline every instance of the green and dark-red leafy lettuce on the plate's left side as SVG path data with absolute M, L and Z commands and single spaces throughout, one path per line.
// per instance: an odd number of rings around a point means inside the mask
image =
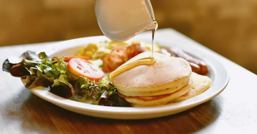
M 44 52 L 26 51 L 20 57 L 10 57 L 3 63 L 3 71 L 25 79 L 28 89 L 43 86 L 53 94 L 84 103 L 103 106 L 130 107 L 118 96 L 117 89 L 107 78 L 96 82 L 79 77 L 67 70 L 67 57 L 49 58 Z

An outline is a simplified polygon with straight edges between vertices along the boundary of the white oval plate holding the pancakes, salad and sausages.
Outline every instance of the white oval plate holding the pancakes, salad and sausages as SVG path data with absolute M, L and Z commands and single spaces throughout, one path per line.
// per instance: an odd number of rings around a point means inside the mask
M 140 39 L 143 42 L 151 43 L 151 38 L 146 35 L 137 35 L 132 39 Z M 83 46 L 87 43 L 98 43 L 99 41 L 108 40 L 105 36 L 93 36 L 93 37 L 85 37 L 72 39 L 64 42 L 60 42 L 55 44 L 56 48 L 59 50 L 55 53 L 50 54 L 50 56 L 72 56 L 77 53 Z M 158 42 L 162 46 L 177 46 L 176 44 L 170 45 L 170 42 L 162 42 L 162 40 L 155 39 L 155 42 Z M 62 48 L 62 50 L 60 49 Z M 108 107 L 108 106 L 98 106 L 85 104 L 69 99 L 65 99 L 59 97 L 57 95 L 52 94 L 51 92 L 45 90 L 43 87 L 36 87 L 30 89 L 33 94 L 36 96 L 49 101 L 59 107 L 64 109 L 77 112 L 79 114 L 101 117 L 101 118 L 111 118 L 111 119 L 147 119 L 147 118 L 156 118 L 167 115 L 176 114 L 178 112 L 185 111 L 192 107 L 195 107 L 199 104 L 202 104 L 218 94 L 220 94 L 225 87 L 227 86 L 229 76 L 225 67 L 215 58 L 209 56 L 207 53 L 197 50 L 197 48 L 183 47 L 184 51 L 189 53 L 192 56 L 200 58 L 204 60 L 208 64 L 209 76 L 213 84 L 212 86 L 205 91 L 204 93 L 193 97 L 191 99 L 177 102 L 174 104 L 167 104 L 163 106 L 155 106 L 155 107 Z M 40 51 L 40 50 L 39 50 Z M 47 54 L 49 54 L 47 53 Z M 23 81 L 24 83 L 24 81 Z M 24 83 L 25 84 L 25 83 Z

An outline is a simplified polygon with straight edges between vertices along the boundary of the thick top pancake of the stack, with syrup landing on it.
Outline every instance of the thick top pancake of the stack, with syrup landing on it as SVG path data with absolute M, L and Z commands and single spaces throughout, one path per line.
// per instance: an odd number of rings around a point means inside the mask
M 121 66 L 135 60 L 150 57 L 151 51 L 141 53 Z M 190 79 L 192 69 L 183 58 L 170 57 L 154 52 L 156 63 L 139 65 L 111 78 L 112 84 L 122 91 L 158 91 L 171 87 L 185 86 Z

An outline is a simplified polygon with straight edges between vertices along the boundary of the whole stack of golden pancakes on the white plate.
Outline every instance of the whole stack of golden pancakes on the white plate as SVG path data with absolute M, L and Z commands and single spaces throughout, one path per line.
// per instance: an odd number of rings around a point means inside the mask
M 135 60 L 150 57 L 151 51 L 141 53 L 122 66 Z M 111 78 L 119 96 L 134 107 L 164 105 L 183 101 L 206 91 L 212 80 L 192 72 L 183 58 L 154 52 L 156 63 L 139 65 Z

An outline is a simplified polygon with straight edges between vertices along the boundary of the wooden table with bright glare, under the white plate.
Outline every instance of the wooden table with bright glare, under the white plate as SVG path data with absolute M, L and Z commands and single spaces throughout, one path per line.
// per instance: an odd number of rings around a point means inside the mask
M 149 33 L 145 33 L 149 34 Z M 172 29 L 155 38 L 207 49 Z M 26 50 L 57 49 L 53 43 L 0 47 L 0 63 Z M 257 133 L 257 76 L 209 50 L 228 69 L 230 81 L 214 99 L 179 114 L 146 120 L 111 120 L 76 114 L 25 89 L 20 78 L 0 71 L 0 133 Z

